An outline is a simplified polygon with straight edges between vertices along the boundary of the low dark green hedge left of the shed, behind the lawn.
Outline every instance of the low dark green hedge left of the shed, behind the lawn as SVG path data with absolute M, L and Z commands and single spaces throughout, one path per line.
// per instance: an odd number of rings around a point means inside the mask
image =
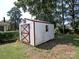
M 0 43 L 16 41 L 18 32 L 0 32 Z

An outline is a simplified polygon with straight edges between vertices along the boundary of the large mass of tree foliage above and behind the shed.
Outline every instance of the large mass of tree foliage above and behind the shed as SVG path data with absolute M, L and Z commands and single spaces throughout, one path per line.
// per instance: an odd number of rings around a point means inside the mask
M 78 0 L 18 0 L 14 3 L 17 7 L 28 11 L 30 14 L 36 16 L 39 20 L 46 20 L 57 23 L 64 30 L 64 23 L 68 21 L 73 29 L 75 27 L 75 20 L 78 19 L 79 1 Z M 75 9 L 74 9 L 75 8 Z

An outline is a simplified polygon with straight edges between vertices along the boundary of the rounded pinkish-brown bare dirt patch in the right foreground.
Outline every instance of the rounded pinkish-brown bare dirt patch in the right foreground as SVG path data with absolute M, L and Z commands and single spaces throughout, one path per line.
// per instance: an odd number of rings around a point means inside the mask
M 57 45 L 55 46 L 49 56 L 49 59 L 74 59 L 75 49 L 72 45 Z

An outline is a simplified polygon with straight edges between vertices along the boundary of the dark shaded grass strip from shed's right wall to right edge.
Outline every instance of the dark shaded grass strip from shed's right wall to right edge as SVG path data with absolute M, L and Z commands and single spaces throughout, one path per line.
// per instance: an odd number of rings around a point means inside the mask
M 55 47 L 58 44 L 66 44 L 66 45 L 72 44 L 75 46 L 79 46 L 79 36 L 62 35 L 62 36 L 56 37 L 54 40 L 50 40 L 36 47 L 40 49 L 51 50 L 53 47 Z

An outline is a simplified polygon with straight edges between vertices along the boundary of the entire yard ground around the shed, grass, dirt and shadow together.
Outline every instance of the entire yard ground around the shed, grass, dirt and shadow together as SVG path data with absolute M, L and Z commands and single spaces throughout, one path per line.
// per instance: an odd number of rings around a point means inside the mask
M 79 36 L 57 36 L 36 47 L 20 42 L 2 44 L 0 59 L 79 59 Z

